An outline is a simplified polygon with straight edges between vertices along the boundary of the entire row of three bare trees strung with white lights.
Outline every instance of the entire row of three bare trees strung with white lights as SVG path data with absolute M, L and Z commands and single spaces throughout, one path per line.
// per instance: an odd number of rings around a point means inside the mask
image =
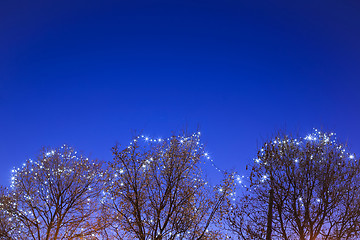
M 138 136 L 109 162 L 44 149 L 0 189 L 0 239 L 359 239 L 360 163 L 332 133 L 265 142 L 241 189 L 210 186 L 205 154 L 199 134 Z

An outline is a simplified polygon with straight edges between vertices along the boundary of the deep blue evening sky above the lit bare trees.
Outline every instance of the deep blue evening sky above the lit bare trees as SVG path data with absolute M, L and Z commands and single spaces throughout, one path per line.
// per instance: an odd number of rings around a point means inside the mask
M 245 172 L 278 130 L 360 154 L 360 2 L 0 1 L 0 184 L 43 146 L 111 160 L 200 130 Z

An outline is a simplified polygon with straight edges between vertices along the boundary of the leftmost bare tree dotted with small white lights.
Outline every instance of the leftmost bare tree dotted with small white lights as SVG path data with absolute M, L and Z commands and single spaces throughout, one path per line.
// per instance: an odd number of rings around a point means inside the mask
M 102 227 L 101 165 L 66 145 L 43 149 L 36 161 L 14 169 L 1 201 L 11 239 L 92 239 Z M 6 200 L 6 201 L 5 201 Z

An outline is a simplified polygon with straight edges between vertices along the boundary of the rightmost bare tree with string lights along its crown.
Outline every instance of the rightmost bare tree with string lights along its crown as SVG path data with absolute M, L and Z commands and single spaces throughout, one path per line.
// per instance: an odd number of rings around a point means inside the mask
M 251 166 L 251 189 L 229 215 L 239 239 L 359 239 L 360 161 L 332 133 L 279 135 Z M 268 215 L 273 191 L 273 213 Z

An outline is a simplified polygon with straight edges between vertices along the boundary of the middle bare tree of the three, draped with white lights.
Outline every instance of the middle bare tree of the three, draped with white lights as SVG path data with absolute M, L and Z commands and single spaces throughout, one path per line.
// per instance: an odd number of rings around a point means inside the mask
M 113 148 L 103 199 L 111 238 L 222 239 L 214 224 L 231 193 L 232 178 L 209 186 L 199 135 L 145 141 L 135 137 L 129 147 Z

